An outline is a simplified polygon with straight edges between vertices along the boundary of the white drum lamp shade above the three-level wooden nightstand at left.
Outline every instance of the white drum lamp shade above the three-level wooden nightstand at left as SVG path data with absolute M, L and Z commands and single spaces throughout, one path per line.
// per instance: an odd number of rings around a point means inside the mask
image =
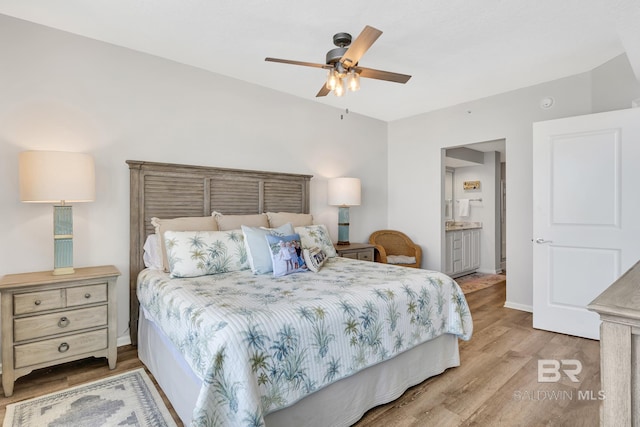
M 23 202 L 92 202 L 96 180 L 93 157 L 62 151 L 20 153 L 20 200 Z

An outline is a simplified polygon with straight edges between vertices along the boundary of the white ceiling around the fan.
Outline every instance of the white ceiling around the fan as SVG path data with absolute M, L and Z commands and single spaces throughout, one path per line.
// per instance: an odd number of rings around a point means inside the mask
M 627 52 L 640 0 L 0 0 L 0 13 L 391 121 L 589 71 Z M 332 36 L 383 31 L 360 65 L 410 74 L 315 98 Z

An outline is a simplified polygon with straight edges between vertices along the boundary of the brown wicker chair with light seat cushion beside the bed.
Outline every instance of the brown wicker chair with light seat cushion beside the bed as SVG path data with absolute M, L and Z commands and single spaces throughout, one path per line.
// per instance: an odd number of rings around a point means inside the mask
M 422 249 L 401 231 L 375 231 L 369 236 L 369 243 L 376 247 L 376 262 L 420 268 Z

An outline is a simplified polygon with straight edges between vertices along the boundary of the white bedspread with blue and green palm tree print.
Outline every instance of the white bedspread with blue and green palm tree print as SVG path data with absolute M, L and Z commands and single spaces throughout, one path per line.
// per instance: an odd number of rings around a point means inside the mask
M 203 380 L 195 426 L 264 425 L 265 414 L 334 381 L 473 329 L 448 276 L 347 258 L 278 278 L 144 270 L 138 298 Z

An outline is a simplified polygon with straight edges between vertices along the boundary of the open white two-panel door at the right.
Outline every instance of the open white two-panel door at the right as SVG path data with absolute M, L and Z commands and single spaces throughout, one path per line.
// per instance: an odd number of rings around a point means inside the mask
M 599 339 L 585 306 L 640 259 L 640 108 L 534 124 L 533 246 L 533 327 Z

